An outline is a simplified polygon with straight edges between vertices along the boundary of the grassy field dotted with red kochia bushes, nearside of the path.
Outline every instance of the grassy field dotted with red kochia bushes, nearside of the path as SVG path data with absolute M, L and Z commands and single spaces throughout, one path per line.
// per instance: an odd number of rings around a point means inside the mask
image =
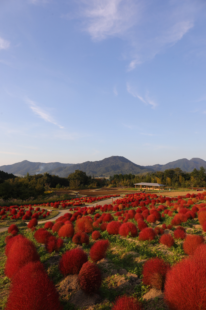
M 11 221 L 14 226 L 0 233 L 0 309 L 18 309 L 21 303 L 21 309 L 32 310 L 28 283 L 44 309 L 53 309 L 51 303 L 64 310 L 206 309 L 206 286 L 200 281 L 206 273 L 201 261 L 206 192 L 169 196 L 174 193 L 128 193 L 113 199 L 113 205 L 95 200 L 97 206 L 78 206 L 74 201 L 54 223 L 33 218 L 28 227 L 18 228 Z M 20 250 L 14 255 L 21 246 L 23 258 Z M 193 271 L 185 273 L 191 264 Z M 51 299 L 44 298 L 48 294 Z

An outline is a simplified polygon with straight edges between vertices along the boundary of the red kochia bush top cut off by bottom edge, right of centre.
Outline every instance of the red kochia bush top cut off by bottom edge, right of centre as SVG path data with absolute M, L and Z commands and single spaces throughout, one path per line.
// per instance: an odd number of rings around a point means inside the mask
M 112 305 L 111 310 L 141 310 L 141 303 L 139 303 L 138 299 L 126 294 L 116 297 Z

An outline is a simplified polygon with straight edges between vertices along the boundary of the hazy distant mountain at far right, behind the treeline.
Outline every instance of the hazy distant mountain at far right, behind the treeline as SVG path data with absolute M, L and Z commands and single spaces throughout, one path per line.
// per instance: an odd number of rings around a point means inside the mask
M 165 165 L 153 165 L 145 166 L 147 169 L 153 169 L 155 171 L 165 171 L 166 169 L 172 169 L 179 167 L 183 171 L 191 172 L 194 168 L 200 170 L 200 167 L 203 166 L 206 169 L 206 162 L 201 158 L 192 158 L 188 160 L 187 158 L 178 159 L 174 162 L 168 162 Z

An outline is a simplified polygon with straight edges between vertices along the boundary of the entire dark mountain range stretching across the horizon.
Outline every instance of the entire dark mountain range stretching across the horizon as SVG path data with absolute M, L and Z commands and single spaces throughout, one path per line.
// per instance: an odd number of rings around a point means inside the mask
M 194 168 L 197 170 L 203 166 L 206 169 L 206 161 L 201 158 L 187 158 L 178 159 L 174 162 L 168 162 L 165 165 L 156 164 L 153 166 L 140 166 L 125 157 L 111 156 L 95 162 L 83 162 L 81 164 L 62 164 L 61 162 L 17 162 L 12 165 L 0 166 L 0 170 L 14 175 L 25 175 L 27 172 L 30 175 L 48 172 L 50 174 L 59 175 L 60 177 L 67 177 L 70 173 L 79 169 L 85 171 L 87 175 L 94 175 L 95 177 L 104 176 L 109 177 L 114 174 L 145 174 L 152 171 L 164 171 L 166 169 L 179 167 L 183 171 L 191 172 Z

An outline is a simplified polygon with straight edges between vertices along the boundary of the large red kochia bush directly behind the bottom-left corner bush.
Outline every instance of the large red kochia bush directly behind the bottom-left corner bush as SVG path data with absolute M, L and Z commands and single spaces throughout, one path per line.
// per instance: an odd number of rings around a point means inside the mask
M 39 254 L 37 253 L 36 247 L 32 241 L 25 237 L 11 241 L 13 242 L 8 253 L 4 270 L 4 273 L 8 278 L 13 277 L 23 265 L 39 260 Z

